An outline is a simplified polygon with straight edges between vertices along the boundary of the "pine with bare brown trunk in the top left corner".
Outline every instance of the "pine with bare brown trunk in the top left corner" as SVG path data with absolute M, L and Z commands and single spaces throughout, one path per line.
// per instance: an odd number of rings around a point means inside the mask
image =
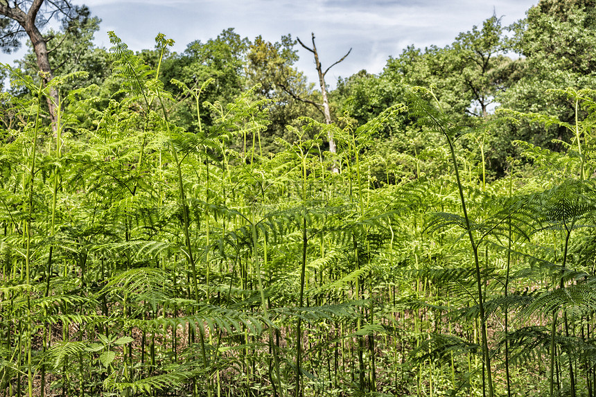
M 43 8 L 43 10 L 42 10 Z M 0 47 L 10 53 L 21 45 L 20 39 L 29 37 L 37 67 L 42 73 L 42 80 L 47 83 L 53 78 L 53 70 L 49 60 L 47 43 L 52 38 L 44 36 L 40 29 L 44 28 L 51 19 L 62 21 L 64 31 L 78 18 L 89 16 L 89 9 L 85 6 L 72 6 L 67 0 L 20 0 L 13 1 L 12 6 L 8 0 L 0 0 Z M 58 104 L 58 91 L 49 90 L 48 107 L 53 129 L 56 128 L 55 107 Z

